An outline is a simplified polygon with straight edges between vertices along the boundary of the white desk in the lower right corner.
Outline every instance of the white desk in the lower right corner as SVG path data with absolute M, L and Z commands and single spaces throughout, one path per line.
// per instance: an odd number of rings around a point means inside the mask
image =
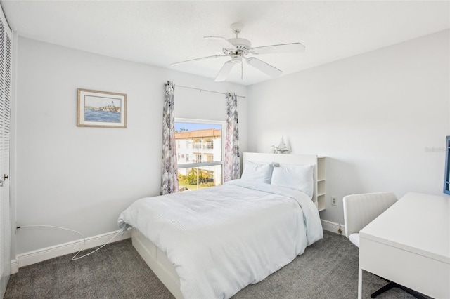
M 450 298 L 450 197 L 408 193 L 359 232 L 362 270 L 431 296 Z

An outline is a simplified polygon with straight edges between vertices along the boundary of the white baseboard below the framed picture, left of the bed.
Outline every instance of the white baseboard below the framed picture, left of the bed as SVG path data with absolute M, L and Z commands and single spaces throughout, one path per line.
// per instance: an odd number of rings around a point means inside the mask
M 101 246 L 109 241 L 115 234 L 119 232 L 107 232 L 105 234 L 99 234 L 94 237 L 87 237 L 84 249 L 94 248 Z M 131 238 L 131 230 L 127 230 L 123 236 L 118 234 L 112 242 L 121 241 L 124 239 Z M 64 244 L 58 244 L 56 246 L 41 248 L 35 251 L 30 251 L 26 253 L 21 253 L 17 255 L 15 260 L 11 260 L 11 274 L 17 273 L 20 267 L 25 267 L 27 265 L 32 265 L 35 263 L 42 262 L 43 260 L 49 260 L 51 258 L 57 258 L 61 255 L 66 255 L 69 253 L 77 253 L 80 249 L 80 244 L 83 244 L 83 239 L 77 241 L 71 241 Z

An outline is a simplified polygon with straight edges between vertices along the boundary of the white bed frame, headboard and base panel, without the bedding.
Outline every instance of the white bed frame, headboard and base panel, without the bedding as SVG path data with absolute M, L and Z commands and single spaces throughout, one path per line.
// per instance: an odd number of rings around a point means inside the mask
M 243 161 L 278 163 L 280 166 L 283 164 L 291 165 L 305 165 L 314 164 L 314 194 L 312 201 L 317 206 L 317 160 L 316 155 L 304 155 L 304 154 L 259 154 L 245 152 Z M 143 236 L 139 230 L 133 228 L 131 234 L 131 240 L 136 251 L 141 255 L 143 260 L 147 263 L 148 267 L 156 274 L 156 276 L 162 281 L 167 289 L 175 296 L 175 298 L 183 298 L 180 291 L 180 279 L 176 274 L 174 265 L 169 261 L 167 255 L 160 251 L 150 240 Z

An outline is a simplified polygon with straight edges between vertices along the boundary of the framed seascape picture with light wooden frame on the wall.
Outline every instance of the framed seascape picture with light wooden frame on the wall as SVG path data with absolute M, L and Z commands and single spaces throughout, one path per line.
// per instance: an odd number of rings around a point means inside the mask
M 77 126 L 127 128 L 127 95 L 78 88 Z

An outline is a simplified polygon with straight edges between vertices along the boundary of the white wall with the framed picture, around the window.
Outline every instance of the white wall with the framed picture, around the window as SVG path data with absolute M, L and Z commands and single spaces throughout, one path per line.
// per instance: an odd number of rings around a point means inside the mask
M 18 39 L 13 201 L 18 225 L 56 225 L 91 237 L 117 230 L 131 202 L 160 193 L 164 83 L 245 95 L 245 86 L 31 39 Z M 127 128 L 77 127 L 77 88 L 127 93 Z M 198 109 L 199 105 L 202 107 Z M 241 150 L 246 100 L 239 100 Z M 225 96 L 176 88 L 176 117 L 224 120 Z M 14 216 L 14 215 L 13 215 Z M 79 239 L 22 228 L 25 253 Z

